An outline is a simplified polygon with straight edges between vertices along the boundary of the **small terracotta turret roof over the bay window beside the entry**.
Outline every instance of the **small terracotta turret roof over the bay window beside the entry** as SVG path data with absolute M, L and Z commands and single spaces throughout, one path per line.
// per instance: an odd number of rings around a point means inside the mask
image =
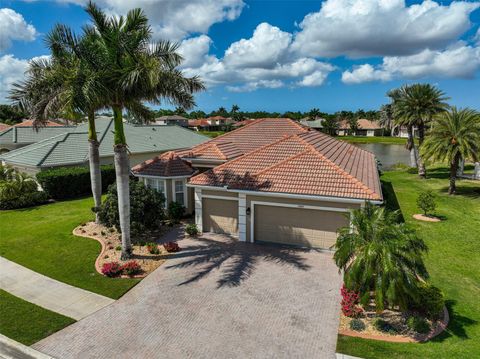
M 170 151 L 136 165 L 132 172 L 145 176 L 176 177 L 190 176 L 196 171 L 188 162 Z

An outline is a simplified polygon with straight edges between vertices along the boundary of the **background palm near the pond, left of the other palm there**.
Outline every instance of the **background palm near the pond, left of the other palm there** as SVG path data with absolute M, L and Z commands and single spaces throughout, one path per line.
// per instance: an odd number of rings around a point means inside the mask
M 443 91 L 430 84 L 405 85 L 400 88 L 394 98 L 394 113 L 399 125 L 407 126 L 409 133 L 409 150 L 418 155 L 413 141 L 413 128 L 418 128 L 418 145 L 422 147 L 425 139 L 425 128 L 433 116 L 445 111 L 448 107 L 447 97 Z M 418 175 L 426 177 L 425 162 L 421 156 L 418 160 Z

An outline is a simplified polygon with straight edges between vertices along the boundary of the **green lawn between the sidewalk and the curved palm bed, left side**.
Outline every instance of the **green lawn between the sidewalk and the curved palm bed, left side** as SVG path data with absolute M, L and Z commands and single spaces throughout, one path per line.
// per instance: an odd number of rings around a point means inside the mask
M 119 298 L 138 279 L 107 278 L 95 270 L 100 243 L 72 230 L 93 219 L 92 198 L 0 211 L 0 256 L 50 278 L 110 298 Z

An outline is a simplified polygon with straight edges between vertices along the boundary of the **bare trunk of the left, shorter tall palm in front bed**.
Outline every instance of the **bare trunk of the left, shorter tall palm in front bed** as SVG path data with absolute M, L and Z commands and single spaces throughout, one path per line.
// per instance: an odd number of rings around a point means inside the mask
M 92 186 L 93 201 L 95 203 L 95 223 L 100 223 L 98 209 L 102 205 L 102 174 L 100 171 L 100 153 L 95 129 L 95 114 L 88 114 L 88 162 L 90 165 L 90 183 Z

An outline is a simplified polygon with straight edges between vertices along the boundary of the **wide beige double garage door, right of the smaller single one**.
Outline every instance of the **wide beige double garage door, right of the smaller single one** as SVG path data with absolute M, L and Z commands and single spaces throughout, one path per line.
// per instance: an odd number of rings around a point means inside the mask
M 345 212 L 255 205 L 254 239 L 329 249 L 337 229 L 349 223 Z

